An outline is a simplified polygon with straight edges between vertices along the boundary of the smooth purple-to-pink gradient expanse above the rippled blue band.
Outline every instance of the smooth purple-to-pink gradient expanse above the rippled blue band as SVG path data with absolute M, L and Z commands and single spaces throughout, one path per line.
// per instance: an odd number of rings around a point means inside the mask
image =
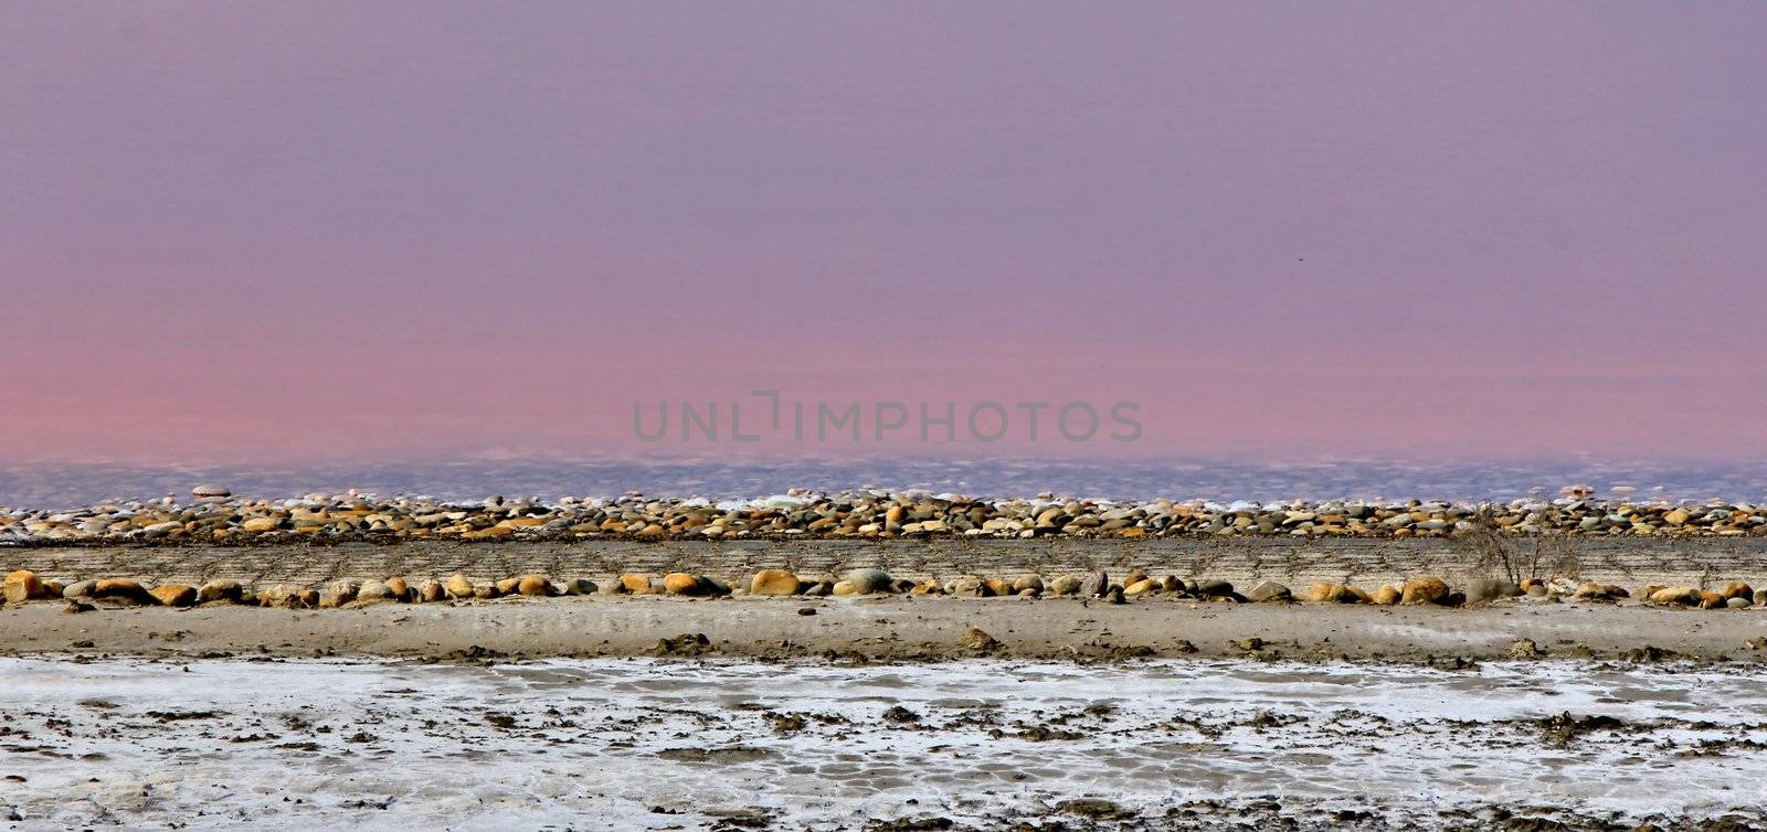
M 624 452 L 634 399 L 758 387 L 1133 399 L 1133 452 L 1763 454 L 1763 34 L 7 2 L 0 458 Z

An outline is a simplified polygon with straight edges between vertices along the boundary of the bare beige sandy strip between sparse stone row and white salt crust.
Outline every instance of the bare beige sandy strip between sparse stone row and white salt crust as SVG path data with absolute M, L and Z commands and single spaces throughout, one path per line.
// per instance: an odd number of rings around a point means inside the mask
M 809 615 L 809 613 L 813 615 Z M 981 629 L 997 647 L 965 643 Z M 1518 639 L 1546 657 L 1767 661 L 1767 611 L 1505 602 L 1488 608 L 1207 604 L 1152 599 L 571 597 L 357 609 L 127 608 L 62 602 L 0 609 L 0 654 L 387 655 L 848 655 L 871 659 L 1260 655 L 1498 659 Z M 694 638 L 659 648 L 659 639 Z M 1258 639 L 1258 641 L 1248 641 Z M 1755 641 L 1767 645 L 1767 641 Z

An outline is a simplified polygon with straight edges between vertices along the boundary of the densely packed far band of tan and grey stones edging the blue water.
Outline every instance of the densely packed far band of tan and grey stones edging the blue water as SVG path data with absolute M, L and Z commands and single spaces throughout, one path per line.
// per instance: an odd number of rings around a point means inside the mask
M 286 544 L 348 541 L 740 541 L 740 539 L 1235 539 L 1235 537 L 1767 537 L 1767 505 L 1557 500 L 1444 502 L 1111 502 L 979 500 L 956 495 L 793 491 L 703 498 L 472 503 L 419 496 L 307 495 L 240 500 L 198 488 L 193 500 L 117 502 L 74 511 L 0 507 L 0 544 Z

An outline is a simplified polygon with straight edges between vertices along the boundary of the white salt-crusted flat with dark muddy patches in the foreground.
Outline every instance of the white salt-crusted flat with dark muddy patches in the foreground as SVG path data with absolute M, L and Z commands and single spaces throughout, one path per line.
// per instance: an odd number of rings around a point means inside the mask
M 1767 668 L 0 659 L 11 828 L 1762 820 Z M 1629 827 L 1626 827 L 1629 828 Z

